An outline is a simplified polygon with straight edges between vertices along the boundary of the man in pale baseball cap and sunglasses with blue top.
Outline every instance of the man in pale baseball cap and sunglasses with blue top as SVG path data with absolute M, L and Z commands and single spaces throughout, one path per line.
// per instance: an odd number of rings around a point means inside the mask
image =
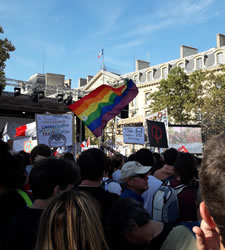
M 123 198 L 132 198 L 143 204 L 141 194 L 148 189 L 148 172 L 151 167 L 142 166 L 136 161 L 128 161 L 121 168 L 121 181 L 124 190 Z

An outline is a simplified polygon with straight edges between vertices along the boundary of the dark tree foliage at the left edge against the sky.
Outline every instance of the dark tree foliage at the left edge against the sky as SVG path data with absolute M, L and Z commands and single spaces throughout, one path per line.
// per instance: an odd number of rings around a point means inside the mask
M 3 28 L 0 26 L 0 33 L 4 33 Z M 10 52 L 14 51 L 15 47 L 7 39 L 0 39 L 0 90 L 5 86 L 5 61 L 10 58 Z

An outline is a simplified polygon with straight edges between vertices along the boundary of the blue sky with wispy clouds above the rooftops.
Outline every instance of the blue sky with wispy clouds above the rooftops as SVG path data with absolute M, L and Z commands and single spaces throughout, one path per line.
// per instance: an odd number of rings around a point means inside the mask
M 225 33 L 224 13 L 224 0 L 1 0 L 0 38 L 16 47 L 6 77 L 28 80 L 44 68 L 74 88 L 100 70 L 102 48 L 119 74 L 134 71 L 134 59 L 177 59 L 181 45 L 208 50 Z

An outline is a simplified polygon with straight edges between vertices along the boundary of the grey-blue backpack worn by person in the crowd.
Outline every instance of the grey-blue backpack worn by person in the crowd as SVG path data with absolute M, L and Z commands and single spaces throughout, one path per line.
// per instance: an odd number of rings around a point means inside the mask
M 181 184 L 175 188 L 170 182 L 163 184 L 154 194 L 152 200 L 152 219 L 165 223 L 176 222 L 179 216 L 179 204 L 177 195 L 188 185 Z

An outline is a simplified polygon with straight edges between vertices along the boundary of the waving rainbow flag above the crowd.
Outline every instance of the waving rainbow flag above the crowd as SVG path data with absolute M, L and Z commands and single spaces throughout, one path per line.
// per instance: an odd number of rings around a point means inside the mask
M 68 107 L 99 137 L 107 122 L 118 115 L 137 94 L 138 89 L 132 80 L 126 80 L 126 84 L 118 88 L 103 84 Z

